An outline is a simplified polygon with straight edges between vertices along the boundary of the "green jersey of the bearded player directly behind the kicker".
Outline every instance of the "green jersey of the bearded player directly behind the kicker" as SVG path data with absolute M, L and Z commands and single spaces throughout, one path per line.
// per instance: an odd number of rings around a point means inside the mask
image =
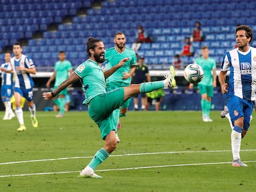
M 107 78 L 107 83 L 121 82 L 130 83 L 131 77 L 125 80 L 122 79 L 124 72 L 129 73 L 132 65 L 137 65 L 137 57 L 133 49 L 125 48 L 123 52 L 119 53 L 116 47 L 105 50 L 105 60 L 107 61 L 106 70 L 111 69 L 117 65 L 121 59 L 130 58 L 122 67 L 114 72 L 110 77 Z

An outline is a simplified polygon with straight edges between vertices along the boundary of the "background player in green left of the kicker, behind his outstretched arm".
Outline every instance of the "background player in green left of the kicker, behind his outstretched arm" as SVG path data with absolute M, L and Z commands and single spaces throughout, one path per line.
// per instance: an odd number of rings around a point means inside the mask
M 66 60 L 66 54 L 64 51 L 59 51 L 59 61 L 56 62 L 54 66 L 54 72 L 53 75 L 49 78 L 49 80 L 46 83 L 46 87 L 49 88 L 51 81 L 55 78 L 55 83 L 53 89 L 55 89 L 57 86 L 59 86 L 62 81 L 66 80 L 69 77 L 69 73 L 71 74 L 72 71 L 72 64 L 70 61 Z M 64 111 L 65 111 L 65 96 L 67 95 L 67 88 L 62 90 L 61 93 L 59 93 L 59 98 L 54 99 L 54 102 L 57 106 L 59 106 L 59 114 L 56 115 L 56 117 L 63 117 Z

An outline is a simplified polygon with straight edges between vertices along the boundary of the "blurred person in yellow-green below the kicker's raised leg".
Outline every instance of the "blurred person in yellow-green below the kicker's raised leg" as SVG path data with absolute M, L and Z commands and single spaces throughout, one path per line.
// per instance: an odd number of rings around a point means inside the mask
M 164 98 L 164 90 L 158 89 L 150 93 L 147 93 L 147 97 L 148 97 L 148 104 L 146 109 L 148 110 L 150 105 L 155 104 L 156 111 L 160 111 L 161 102 L 163 101 L 163 98 Z

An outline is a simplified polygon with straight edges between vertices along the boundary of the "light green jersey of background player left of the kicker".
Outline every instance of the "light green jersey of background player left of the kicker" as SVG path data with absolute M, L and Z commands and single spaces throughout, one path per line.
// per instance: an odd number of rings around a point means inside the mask
M 56 62 L 54 65 L 54 70 L 56 70 L 54 86 L 61 85 L 61 83 L 69 77 L 69 70 L 71 69 L 72 65 L 67 60 Z

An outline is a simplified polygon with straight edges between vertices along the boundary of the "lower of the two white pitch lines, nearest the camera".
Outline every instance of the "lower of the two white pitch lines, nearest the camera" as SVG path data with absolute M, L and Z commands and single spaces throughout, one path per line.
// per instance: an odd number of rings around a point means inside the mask
M 244 162 L 256 162 L 256 161 L 244 161 Z M 176 164 L 176 165 L 156 165 L 148 167 L 128 167 L 121 169 L 101 169 L 95 170 L 95 172 L 108 172 L 108 171 L 119 171 L 119 170 L 139 170 L 139 169 L 153 169 L 153 168 L 163 168 L 163 167 L 182 167 L 182 166 L 196 166 L 196 165 L 220 165 L 220 164 L 231 164 L 232 162 L 209 162 L 209 163 L 200 163 L 200 164 Z M 70 171 L 70 172 L 48 172 L 48 173 L 27 173 L 19 175 L 0 175 L 0 178 L 3 177 L 23 177 L 23 176 L 32 176 L 32 175 L 53 175 L 53 174 L 64 174 L 64 173 L 79 173 L 80 171 Z

